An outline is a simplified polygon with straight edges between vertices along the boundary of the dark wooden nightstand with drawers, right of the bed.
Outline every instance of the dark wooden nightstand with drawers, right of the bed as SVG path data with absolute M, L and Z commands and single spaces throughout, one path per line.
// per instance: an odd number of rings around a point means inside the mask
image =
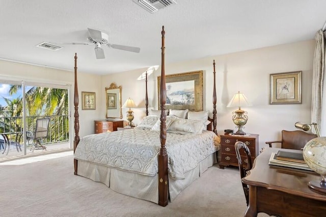
M 249 134 L 249 133 L 248 133 Z M 221 137 L 221 160 L 220 160 L 220 168 L 224 169 L 226 166 L 236 166 L 238 167 L 238 159 L 236 158 L 234 144 L 238 141 L 243 142 L 250 149 L 252 162 L 258 156 L 258 145 L 259 140 L 258 134 L 250 134 L 250 136 L 239 136 L 239 135 L 220 135 Z M 240 152 L 242 161 L 246 161 L 246 153 L 243 150 Z

